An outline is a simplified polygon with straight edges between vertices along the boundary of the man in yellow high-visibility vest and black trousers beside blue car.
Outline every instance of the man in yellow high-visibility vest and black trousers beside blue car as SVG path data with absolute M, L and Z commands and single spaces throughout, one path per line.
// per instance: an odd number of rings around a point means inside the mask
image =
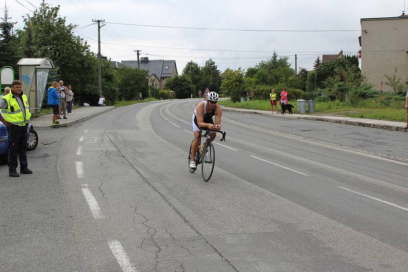
M 27 95 L 22 90 L 20 80 L 11 83 L 11 92 L 0 99 L 0 121 L 7 127 L 9 134 L 9 176 L 19 177 L 17 173 L 17 155 L 20 160 L 20 174 L 33 174 L 28 168 L 27 129 L 31 113 Z

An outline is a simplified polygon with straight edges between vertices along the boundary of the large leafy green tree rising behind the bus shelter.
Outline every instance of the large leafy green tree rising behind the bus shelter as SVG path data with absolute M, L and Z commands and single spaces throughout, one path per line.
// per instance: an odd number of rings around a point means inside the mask
M 32 16 L 24 16 L 24 27 L 17 30 L 19 45 L 28 58 L 52 60 L 55 77 L 92 100 L 98 96 L 95 55 L 84 40 L 72 34 L 77 25 L 66 24 L 59 10 L 60 6 L 50 7 L 43 1 Z

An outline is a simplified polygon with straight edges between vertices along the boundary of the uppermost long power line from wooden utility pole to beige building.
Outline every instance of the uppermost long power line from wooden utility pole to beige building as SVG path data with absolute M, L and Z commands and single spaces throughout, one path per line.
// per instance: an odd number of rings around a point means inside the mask
M 136 24 L 136 23 L 119 23 L 106 22 L 111 24 L 146 26 L 150 28 L 166 28 L 166 29 L 192 29 L 192 30 L 220 30 L 220 31 L 246 31 L 246 32 L 354 32 L 361 30 L 259 30 L 259 29 L 212 29 L 212 28 L 191 28 L 188 26 L 169 26 L 169 25 L 152 25 L 152 24 Z

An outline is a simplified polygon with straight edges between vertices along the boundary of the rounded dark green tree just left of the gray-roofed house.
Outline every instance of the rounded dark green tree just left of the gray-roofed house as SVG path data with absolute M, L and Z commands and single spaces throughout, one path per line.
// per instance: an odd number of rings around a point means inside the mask
M 135 69 L 127 66 L 121 66 L 117 70 L 120 89 L 119 97 L 123 100 L 134 100 L 139 97 L 139 92 L 143 97 L 147 97 L 148 93 L 148 71 Z

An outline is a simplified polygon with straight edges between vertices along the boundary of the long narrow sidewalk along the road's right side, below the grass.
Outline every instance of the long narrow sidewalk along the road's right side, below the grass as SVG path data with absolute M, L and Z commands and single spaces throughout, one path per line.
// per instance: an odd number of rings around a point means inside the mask
M 340 123 L 353 126 L 365 126 L 371 128 L 387 129 L 394 131 L 408 132 L 408 129 L 404 129 L 405 122 L 387 121 L 387 120 L 375 120 L 375 119 L 364 119 L 364 118 L 352 118 L 343 116 L 324 116 L 324 115 L 307 115 L 307 114 L 276 114 L 270 111 L 259 111 L 259 110 L 246 110 L 245 108 L 233 108 L 233 107 L 222 107 L 225 112 L 234 113 L 247 113 L 247 114 L 259 114 L 264 116 L 272 116 L 277 118 L 291 118 L 291 119 L 306 119 L 314 121 L 332 122 Z

